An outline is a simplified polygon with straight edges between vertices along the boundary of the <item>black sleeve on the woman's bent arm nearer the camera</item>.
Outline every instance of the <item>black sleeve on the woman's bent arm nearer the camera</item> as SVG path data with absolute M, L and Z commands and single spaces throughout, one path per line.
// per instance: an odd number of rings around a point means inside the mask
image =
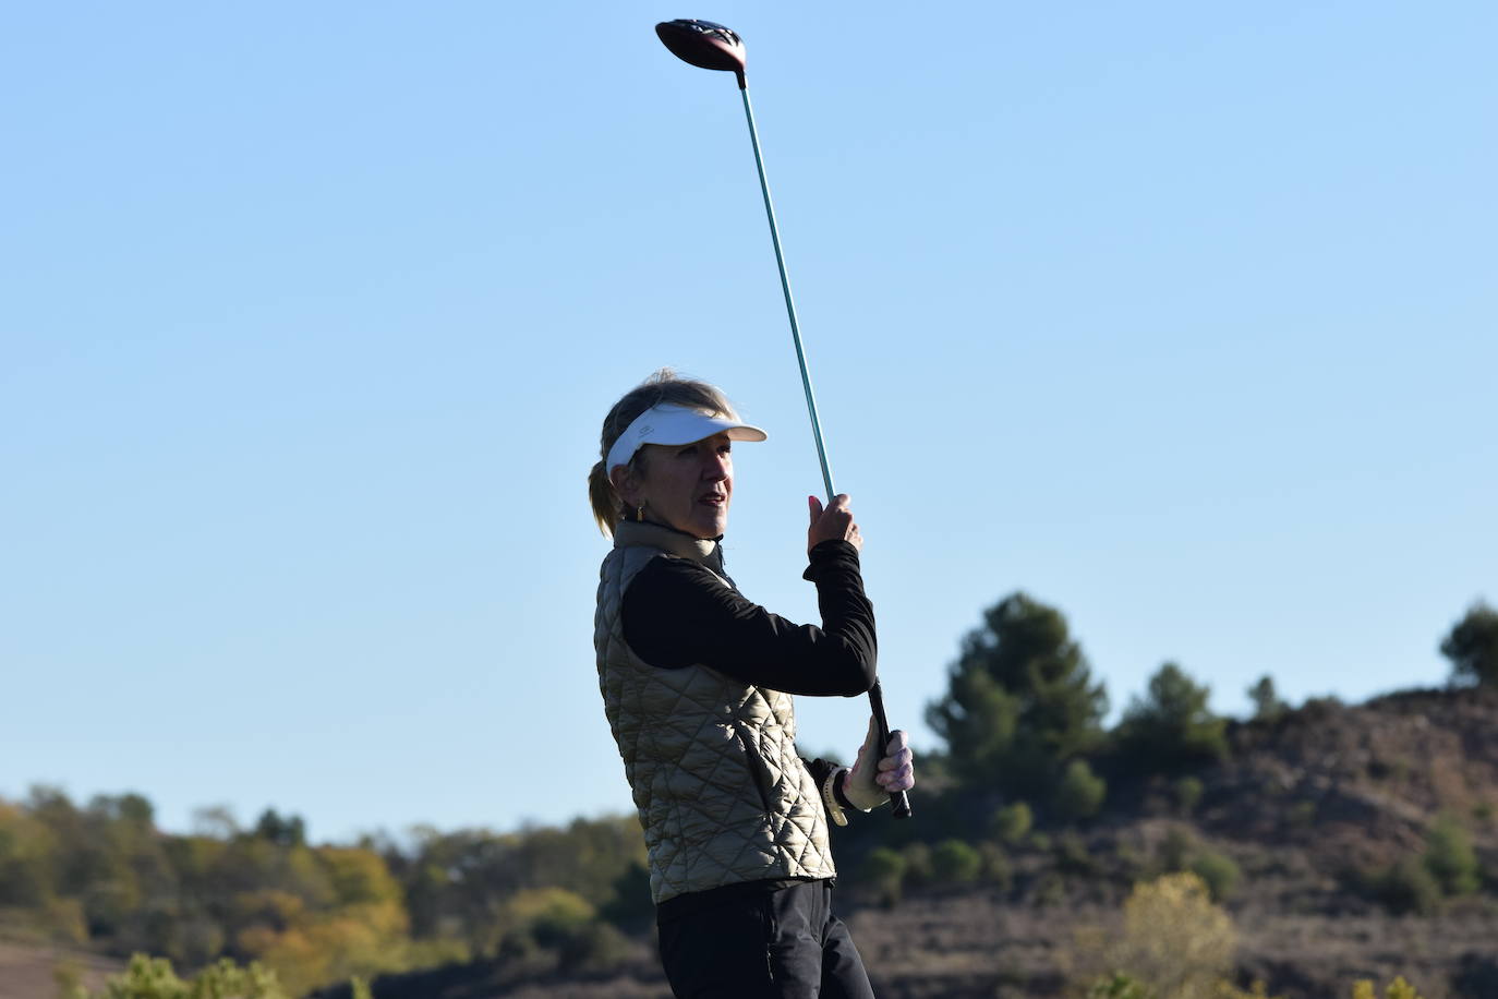
M 786 693 L 864 693 L 878 646 L 858 550 L 824 541 L 806 578 L 816 584 L 822 628 L 771 614 L 695 562 L 652 559 L 625 590 L 625 641 L 664 669 L 701 664 Z

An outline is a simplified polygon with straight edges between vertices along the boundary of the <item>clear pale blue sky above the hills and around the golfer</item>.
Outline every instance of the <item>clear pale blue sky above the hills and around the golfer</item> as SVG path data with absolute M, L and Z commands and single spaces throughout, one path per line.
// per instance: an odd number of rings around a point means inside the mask
M 737 28 L 891 716 L 1061 607 L 1115 710 L 1444 680 L 1498 601 L 1491 3 L 25 4 L 0 33 L 0 795 L 318 839 L 629 807 L 583 476 L 670 364 L 797 619 L 819 490 Z M 863 702 L 800 702 L 849 752 Z

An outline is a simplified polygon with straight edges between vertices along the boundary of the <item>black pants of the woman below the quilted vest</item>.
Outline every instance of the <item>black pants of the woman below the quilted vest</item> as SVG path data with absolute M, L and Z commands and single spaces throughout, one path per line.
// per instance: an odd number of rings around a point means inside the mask
M 679 999 L 873 999 L 831 881 L 740 893 L 661 923 L 661 963 Z

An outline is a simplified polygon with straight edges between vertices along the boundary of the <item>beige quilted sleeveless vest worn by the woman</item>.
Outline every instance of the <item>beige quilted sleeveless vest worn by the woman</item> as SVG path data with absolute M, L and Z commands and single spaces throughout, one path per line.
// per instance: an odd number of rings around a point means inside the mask
M 646 830 L 652 897 L 836 876 L 821 791 L 795 755 L 791 695 L 707 666 L 652 666 L 625 644 L 625 589 L 667 556 L 733 586 L 716 542 L 626 521 L 604 559 L 593 619 L 598 684 Z

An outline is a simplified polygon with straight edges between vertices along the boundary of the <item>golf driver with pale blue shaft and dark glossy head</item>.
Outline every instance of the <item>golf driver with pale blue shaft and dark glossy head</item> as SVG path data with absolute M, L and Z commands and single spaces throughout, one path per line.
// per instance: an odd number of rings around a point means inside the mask
M 764 175 L 764 157 L 759 153 L 759 130 L 753 124 L 753 108 L 749 103 L 749 84 L 745 81 L 743 39 L 722 24 L 712 21 L 662 21 L 656 34 L 671 54 L 685 63 L 701 69 L 731 70 L 739 79 L 739 94 L 745 102 L 745 118 L 749 120 L 749 141 L 753 144 L 753 163 L 759 171 L 759 190 L 764 193 L 764 214 L 770 219 L 770 241 L 774 244 L 774 264 L 780 271 L 780 291 L 785 292 L 785 312 L 791 319 L 791 340 L 795 343 L 795 362 L 801 368 L 801 388 L 806 389 L 806 412 L 812 418 L 812 436 L 816 439 L 816 458 L 822 466 L 822 485 L 827 487 L 827 502 L 837 494 L 833 488 L 831 467 L 827 464 L 827 445 L 822 442 L 822 424 L 816 418 L 816 395 L 812 392 L 812 376 L 806 368 L 806 350 L 801 347 L 801 330 L 795 321 L 795 300 L 791 298 L 791 279 L 785 273 L 785 255 L 780 250 L 780 231 L 774 225 L 774 204 L 770 201 L 770 181 Z M 884 690 L 878 678 L 869 689 L 869 705 L 879 729 L 882 746 L 890 744 L 890 722 L 884 714 Z M 890 794 L 894 818 L 911 815 L 911 803 L 903 791 Z

